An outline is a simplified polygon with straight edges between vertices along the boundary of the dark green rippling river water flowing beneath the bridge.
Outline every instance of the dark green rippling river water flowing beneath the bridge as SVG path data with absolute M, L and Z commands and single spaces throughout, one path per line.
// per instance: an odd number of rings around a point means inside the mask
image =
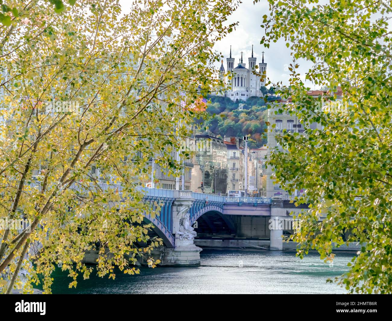
M 295 252 L 260 250 L 203 250 L 196 267 L 160 266 L 140 268 L 139 275 L 116 271 L 116 279 L 98 277 L 78 281 L 69 289 L 71 279 L 60 269 L 53 274 L 54 294 L 328 294 L 345 293 L 328 277 L 343 274 L 355 252 L 337 252 L 334 265 L 321 261 L 317 253 L 303 260 Z

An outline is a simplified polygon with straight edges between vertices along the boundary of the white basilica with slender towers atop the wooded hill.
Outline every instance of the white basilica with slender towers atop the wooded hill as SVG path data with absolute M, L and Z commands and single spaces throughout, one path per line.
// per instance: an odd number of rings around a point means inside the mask
M 248 58 L 248 68 L 243 63 L 241 52 L 241 59 L 238 65 L 235 65 L 235 58 L 231 57 L 231 46 L 230 56 L 226 58 L 227 71 L 223 67 L 223 60 L 219 69 L 219 79 L 225 84 L 224 90 L 217 94 L 220 96 L 229 97 L 233 101 L 247 100 L 249 97 L 257 96 L 263 97 L 263 93 L 260 91 L 261 86 L 265 86 L 265 79 L 260 81 L 260 77 L 254 75 L 252 71 L 256 70 L 263 73 L 267 69 L 267 64 L 264 62 L 264 51 L 261 64 L 256 69 L 256 57 L 253 57 L 253 45 L 252 45 L 252 57 Z

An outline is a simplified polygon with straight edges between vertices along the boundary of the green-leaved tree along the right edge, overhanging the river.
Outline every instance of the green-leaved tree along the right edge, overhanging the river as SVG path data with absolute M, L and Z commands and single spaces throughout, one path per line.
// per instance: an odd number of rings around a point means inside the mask
M 306 79 L 333 89 L 330 100 L 319 97 L 315 102 L 294 61 L 290 90 L 279 90 L 293 102 L 283 109 L 306 128 L 306 135 L 283 133 L 279 142 L 285 151 L 272 153 L 268 164 L 285 190 L 306 191 L 296 200 L 311 206 L 300 215 L 301 230 L 294 235 L 298 254 L 316 249 L 321 258 L 330 259 L 332 242 L 359 241 L 358 256 L 337 281 L 349 292 L 391 293 L 390 3 L 269 0 L 269 5 L 261 43 L 268 47 L 284 38 L 295 60 L 314 63 Z M 334 110 L 318 108 L 336 101 L 338 86 L 343 104 Z M 322 129 L 310 129 L 312 122 Z M 342 239 L 346 230 L 347 242 Z

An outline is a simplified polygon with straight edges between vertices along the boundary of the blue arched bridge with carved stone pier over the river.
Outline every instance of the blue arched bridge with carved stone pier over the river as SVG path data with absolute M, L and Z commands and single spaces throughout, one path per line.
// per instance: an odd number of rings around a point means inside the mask
M 122 190 L 121 184 L 98 185 L 102 191 Z M 160 204 L 158 214 L 153 217 L 144 214 L 146 223 L 152 223 L 152 231 L 162 238 L 165 245 L 156 253 L 163 264 L 199 264 L 201 248 L 194 244 L 195 237 L 197 242 L 211 238 L 237 239 L 241 243 L 263 240 L 269 242 L 270 250 L 282 250 L 283 230 L 279 228 L 278 221 L 290 219 L 289 212 L 293 208 L 291 206 L 287 210 L 281 200 L 136 188 L 143 194 L 144 202 Z M 296 210 L 301 209 L 294 209 L 294 212 Z M 90 259 L 90 262 L 95 262 L 93 256 Z

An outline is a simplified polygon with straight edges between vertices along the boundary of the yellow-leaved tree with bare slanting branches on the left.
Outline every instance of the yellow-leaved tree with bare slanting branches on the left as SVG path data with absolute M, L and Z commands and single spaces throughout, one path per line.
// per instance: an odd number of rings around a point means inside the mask
M 1 27 L 0 219 L 30 225 L 0 226 L 0 274 L 11 279 L 1 292 L 22 287 L 24 268 L 24 292 L 42 275 L 50 293 L 55 265 L 76 286 L 91 273 L 81 263 L 90 249 L 99 250 L 98 275 L 138 273 L 138 255 L 162 244 L 143 223 L 160 204 L 144 202 L 137 181 L 151 158 L 180 175 L 176 137 L 189 133 L 198 86 L 215 90 L 212 46 L 231 30 L 223 23 L 236 5 L 138 0 L 123 15 L 116 0 L 60 13 L 47 2 L 28 12 L 9 4 L 19 16 Z

